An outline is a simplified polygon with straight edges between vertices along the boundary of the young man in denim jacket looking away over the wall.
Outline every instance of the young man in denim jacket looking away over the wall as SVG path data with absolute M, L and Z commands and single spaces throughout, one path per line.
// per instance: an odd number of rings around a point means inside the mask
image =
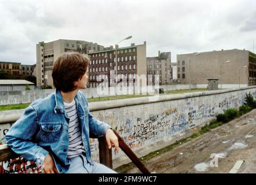
M 80 89 L 86 88 L 89 59 L 64 53 L 53 66 L 56 92 L 38 99 L 6 134 L 7 145 L 27 160 L 42 165 L 45 173 L 115 173 L 92 161 L 89 135 L 105 136 L 118 152 L 111 127 L 93 119 Z

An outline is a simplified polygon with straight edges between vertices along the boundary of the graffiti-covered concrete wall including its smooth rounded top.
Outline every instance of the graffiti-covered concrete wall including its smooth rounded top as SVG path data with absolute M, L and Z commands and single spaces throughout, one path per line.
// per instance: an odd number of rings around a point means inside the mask
M 218 113 L 243 105 L 246 93 L 256 97 L 256 86 L 229 90 L 193 92 L 187 94 L 163 95 L 158 101 L 148 97 L 116 101 L 89 103 L 96 119 L 112 126 L 137 154 L 144 156 L 151 151 L 168 146 L 191 132 L 192 128 L 203 125 Z M 13 111 L 0 112 L 0 119 Z M 19 114 L 19 113 L 18 113 Z M 11 116 L 13 117 L 13 116 Z M 1 123 L 1 121 L 0 121 Z M 10 124 L 2 125 L 0 142 Z M 98 161 L 98 142 L 92 140 L 92 155 Z M 130 160 L 121 151 L 112 153 L 114 168 Z

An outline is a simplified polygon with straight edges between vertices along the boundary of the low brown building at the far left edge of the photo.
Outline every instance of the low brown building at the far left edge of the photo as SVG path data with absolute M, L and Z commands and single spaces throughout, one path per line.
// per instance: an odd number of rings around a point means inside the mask
M 21 63 L 19 62 L 1 62 L 0 71 L 5 71 L 14 77 L 21 77 Z

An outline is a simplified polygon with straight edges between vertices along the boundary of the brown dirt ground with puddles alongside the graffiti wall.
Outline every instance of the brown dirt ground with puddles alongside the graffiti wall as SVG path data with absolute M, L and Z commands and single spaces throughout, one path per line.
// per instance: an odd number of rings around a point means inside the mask
M 210 165 L 211 154 L 218 154 L 218 167 Z M 238 160 L 244 162 L 237 173 L 256 173 L 256 109 L 151 158 L 145 166 L 156 173 L 229 173 Z M 127 173 L 140 171 L 133 168 Z

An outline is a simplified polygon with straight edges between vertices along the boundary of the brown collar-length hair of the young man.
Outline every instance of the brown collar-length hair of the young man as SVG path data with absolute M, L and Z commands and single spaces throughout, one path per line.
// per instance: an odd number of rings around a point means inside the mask
M 89 65 L 89 58 L 80 53 L 63 53 L 53 65 L 53 85 L 63 92 L 76 89 L 74 82 L 85 75 Z

